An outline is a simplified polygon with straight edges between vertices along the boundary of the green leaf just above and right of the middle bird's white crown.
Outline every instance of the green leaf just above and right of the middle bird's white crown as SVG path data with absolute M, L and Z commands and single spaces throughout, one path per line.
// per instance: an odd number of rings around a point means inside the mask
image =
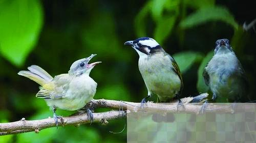
M 176 15 L 168 16 L 168 17 L 164 16 L 158 20 L 154 37 L 159 44 L 163 44 L 164 39 L 170 33 L 172 33 L 172 30 L 176 21 L 176 17 L 177 17 Z

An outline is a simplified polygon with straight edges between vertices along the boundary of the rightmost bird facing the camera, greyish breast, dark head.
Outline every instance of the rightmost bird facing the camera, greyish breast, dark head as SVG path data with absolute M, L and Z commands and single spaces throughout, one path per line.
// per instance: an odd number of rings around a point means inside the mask
M 216 41 L 214 56 L 205 66 L 203 77 L 205 84 L 213 93 L 212 101 L 221 97 L 226 100 L 222 100 L 222 102 L 238 102 L 248 94 L 245 70 L 228 39 Z

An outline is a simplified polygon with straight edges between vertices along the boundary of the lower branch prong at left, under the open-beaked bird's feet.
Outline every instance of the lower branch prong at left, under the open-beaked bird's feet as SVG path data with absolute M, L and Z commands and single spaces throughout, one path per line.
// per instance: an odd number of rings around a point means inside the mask
M 123 118 L 126 116 L 126 111 L 107 111 L 101 113 L 93 113 L 93 122 L 102 123 L 103 125 L 108 124 L 108 120 L 114 120 L 118 118 Z M 77 125 L 88 124 L 90 120 L 88 119 L 87 113 L 71 117 L 63 117 L 64 125 Z M 61 122 L 59 122 L 61 125 Z M 0 123 L 0 135 L 6 134 L 16 134 L 35 131 L 38 133 L 42 129 L 56 127 L 53 118 L 27 121 L 23 118 L 20 121 L 11 123 Z

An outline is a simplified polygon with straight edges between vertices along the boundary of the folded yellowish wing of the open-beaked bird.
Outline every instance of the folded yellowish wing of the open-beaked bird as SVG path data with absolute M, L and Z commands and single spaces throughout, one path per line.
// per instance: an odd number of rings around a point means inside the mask
M 65 98 L 65 94 L 69 89 L 69 83 L 70 78 L 68 74 L 57 75 L 51 82 L 40 88 L 36 97 L 45 100 Z

